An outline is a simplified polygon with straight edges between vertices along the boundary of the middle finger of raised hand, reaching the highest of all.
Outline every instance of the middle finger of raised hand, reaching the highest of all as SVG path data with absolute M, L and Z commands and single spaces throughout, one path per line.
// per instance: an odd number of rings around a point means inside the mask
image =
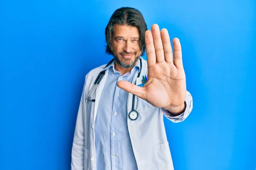
M 151 26 L 152 30 L 152 35 L 153 35 L 153 40 L 154 40 L 154 48 L 155 48 L 155 53 L 157 57 L 157 62 L 164 62 L 164 52 L 163 52 L 163 42 L 161 39 L 161 34 L 160 34 L 160 29 L 157 24 L 153 24 Z

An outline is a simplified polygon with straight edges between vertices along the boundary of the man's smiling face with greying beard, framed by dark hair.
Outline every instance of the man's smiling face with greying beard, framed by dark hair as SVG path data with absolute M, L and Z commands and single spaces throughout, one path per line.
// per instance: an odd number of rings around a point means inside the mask
M 112 44 L 113 56 L 122 67 L 130 68 L 140 58 L 140 32 L 137 27 L 116 24 Z

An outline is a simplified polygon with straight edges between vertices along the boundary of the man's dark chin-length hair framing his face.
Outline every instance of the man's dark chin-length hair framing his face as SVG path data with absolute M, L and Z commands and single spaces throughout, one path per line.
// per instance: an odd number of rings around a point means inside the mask
M 112 54 L 112 35 L 113 28 L 115 24 L 135 26 L 139 29 L 140 32 L 140 51 L 141 55 L 145 54 L 145 31 L 147 30 L 147 25 L 145 23 L 144 17 L 141 12 L 135 8 L 122 7 L 116 9 L 112 14 L 107 27 L 105 28 L 105 37 L 106 37 L 106 53 Z

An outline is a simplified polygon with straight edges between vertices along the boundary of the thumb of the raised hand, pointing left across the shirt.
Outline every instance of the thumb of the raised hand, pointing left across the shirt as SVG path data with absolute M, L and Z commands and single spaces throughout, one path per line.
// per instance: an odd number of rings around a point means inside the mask
M 123 81 L 123 80 L 117 82 L 117 86 L 131 94 L 134 94 L 134 95 L 140 97 L 141 99 L 144 99 L 144 100 L 146 99 L 145 88 L 141 88 L 137 85 L 134 85 L 130 82 Z

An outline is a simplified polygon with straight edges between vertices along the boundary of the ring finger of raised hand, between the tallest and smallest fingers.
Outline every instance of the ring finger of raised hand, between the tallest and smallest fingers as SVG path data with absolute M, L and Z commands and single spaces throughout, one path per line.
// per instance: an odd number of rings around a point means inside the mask
M 170 41 L 170 37 L 166 28 L 163 28 L 161 31 L 161 38 L 163 41 L 163 49 L 164 49 L 164 56 L 167 63 L 173 63 L 173 55 L 172 55 L 172 45 Z

